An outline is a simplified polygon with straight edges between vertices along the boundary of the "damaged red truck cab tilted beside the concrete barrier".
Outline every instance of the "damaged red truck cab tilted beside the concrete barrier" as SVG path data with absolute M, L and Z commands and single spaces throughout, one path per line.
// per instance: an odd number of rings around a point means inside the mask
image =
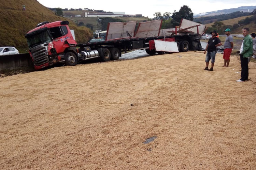
M 66 65 L 77 64 L 77 52 L 68 21 L 42 22 L 29 31 L 25 37 L 29 54 L 36 70 L 57 62 Z

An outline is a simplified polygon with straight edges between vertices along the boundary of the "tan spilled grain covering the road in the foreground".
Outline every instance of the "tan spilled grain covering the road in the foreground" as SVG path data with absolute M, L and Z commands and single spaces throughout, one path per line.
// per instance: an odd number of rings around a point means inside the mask
M 256 169 L 256 64 L 203 52 L 0 79 L 0 169 Z M 156 137 L 150 143 L 143 142 Z

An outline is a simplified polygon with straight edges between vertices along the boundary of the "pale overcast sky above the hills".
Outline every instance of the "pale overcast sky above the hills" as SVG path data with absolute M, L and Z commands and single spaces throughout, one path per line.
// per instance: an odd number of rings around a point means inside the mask
M 237 8 L 239 6 L 255 6 L 256 0 L 37 0 L 46 7 L 89 8 L 106 12 L 125 12 L 125 14 L 142 14 L 154 18 L 155 12 L 173 13 L 183 5 L 188 5 L 195 14 Z

